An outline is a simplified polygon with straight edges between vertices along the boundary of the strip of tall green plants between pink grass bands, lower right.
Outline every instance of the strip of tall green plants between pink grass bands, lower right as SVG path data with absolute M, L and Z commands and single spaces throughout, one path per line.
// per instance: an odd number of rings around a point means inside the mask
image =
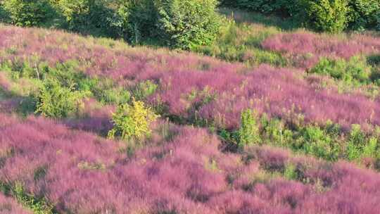
M 260 120 L 260 125 L 258 124 Z M 271 146 L 289 148 L 324 160 L 353 160 L 360 163 L 364 158 L 380 160 L 380 128 L 364 132 L 360 125 L 353 125 L 349 132 L 331 121 L 324 125 L 298 125 L 267 115 L 256 115 L 245 111 L 241 114 L 239 130 L 220 130 L 218 135 L 227 143 L 227 149 L 241 152 L 259 142 Z M 289 171 L 290 173 L 290 171 Z

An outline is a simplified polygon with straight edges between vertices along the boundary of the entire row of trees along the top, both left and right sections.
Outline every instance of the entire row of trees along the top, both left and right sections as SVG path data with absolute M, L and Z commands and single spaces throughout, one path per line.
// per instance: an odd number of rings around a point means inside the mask
M 2 0 L 0 18 L 18 26 L 191 49 L 217 37 L 219 4 L 293 18 L 322 32 L 380 29 L 377 0 Z

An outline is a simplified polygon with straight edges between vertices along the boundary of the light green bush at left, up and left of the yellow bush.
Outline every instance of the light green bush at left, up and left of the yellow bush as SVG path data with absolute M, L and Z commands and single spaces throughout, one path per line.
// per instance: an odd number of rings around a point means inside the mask
M 50 118 L 65 118 L 77 113 L 82 104 L 84 94 L 75 91 L 74 86 L 62 87 L 54 79 L 46 79 L 36 96 L 35 113 Z

